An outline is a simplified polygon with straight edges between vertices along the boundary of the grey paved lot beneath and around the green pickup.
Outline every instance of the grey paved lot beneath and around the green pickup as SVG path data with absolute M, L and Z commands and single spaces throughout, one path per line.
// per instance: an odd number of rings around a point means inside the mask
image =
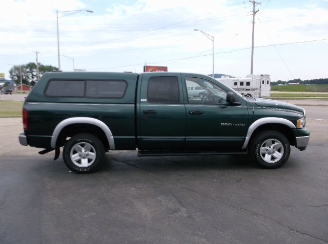
M 327 243 L 328 107 L 304 108 L 310 145 L 275 170 L 115 151 L 80 175 L 20 146 L 19 118 L 0 119 L 0 242 Z

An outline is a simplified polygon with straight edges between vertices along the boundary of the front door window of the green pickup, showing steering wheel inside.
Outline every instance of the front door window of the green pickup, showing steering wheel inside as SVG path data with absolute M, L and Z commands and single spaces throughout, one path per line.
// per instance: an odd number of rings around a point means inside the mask
M 200 87 L 194 91 L 187 90 L 188 101 L 192 104 L 227 104 L 227 92 L 212 81 L 186 77 L 186 85 Z

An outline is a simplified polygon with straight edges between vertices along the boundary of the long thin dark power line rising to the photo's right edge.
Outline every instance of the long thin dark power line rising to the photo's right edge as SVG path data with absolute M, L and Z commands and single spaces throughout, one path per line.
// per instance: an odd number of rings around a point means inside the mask
M 292 45 L 292 44 L 308 43 L 308 42 L 324 41 L 324 40 L 328 40 L 328 38 L 316 39 L 316 40 L 307 40 L 307 41 L 295 41 L 295 42 L 287 42 L 287 43 L 277 43 L 277 44 L 271 44 L 271 45 L 256 46 L 254 48 L 267 48 L 267 47 L 273 47 L 273 46 Z M 248 50 L 248 49 L 251 49 L 251 47 L 234 49 L 234 50 L 224 51 L 224 52 L 217 52 L 217 53 L 214 53 L 214 54 L 233 53 L 233 52 L 243 51 L 243 50 Z M 148 63 L 149 64 L 154 64 L 154 63 L 182 61 L 182 60 L 188 60 L 188 59 L 198 58 L 198 57 L 206 57 L 206 56 L 211 56 L 211 55 L 212 54 L 195 55 L 195 56 L 186 57 L 186 58 L 176 58 L 176 59 L 169 59 L 169 60 L 163 60 L 163 61 L 154 61 L 154 62 L 148 62 Z M 87 70 L 90 70 L 90 71 L 91 70 L 106 70 L 106 69 L 126 68 L 126 67 L 131 67 L 131 66 L 138 66 L 138 65 L 144 65 L 144 63 L 136 63 L 136 64 L 130 64 L 130 65 L 121 65 L 121 66 L 111 66 L 111 67 L 97 68 L 97 69 L 87 69 Z

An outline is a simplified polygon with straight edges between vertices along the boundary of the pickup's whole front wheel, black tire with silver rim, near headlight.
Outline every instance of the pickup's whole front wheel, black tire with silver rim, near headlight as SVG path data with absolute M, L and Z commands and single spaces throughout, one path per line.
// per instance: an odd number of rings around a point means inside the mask
M 276 146 L 275 146 L 276 145 Z M 257 134 L 251 142 L 250 153 L 263 168 L 279 168 L 290 156 L 291 145 L 288 139 L 275 130 L 265 130 Z

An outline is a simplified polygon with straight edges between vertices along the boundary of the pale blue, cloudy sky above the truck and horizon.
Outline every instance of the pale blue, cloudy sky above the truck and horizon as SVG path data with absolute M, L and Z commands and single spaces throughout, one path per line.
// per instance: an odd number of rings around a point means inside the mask
M 253 73 L 272 81 L 328 78 L 328 0 L 258 2 Z M 57 10 L 62 71 L 140 73 L 147 63 L 212 74 L 213 41 L 194 29 L 214 36 L 214 73 L 251 71 L 248 0 L 2 0 L 1 6 L 6 79 L 12 65 L 35 62 L 36 51 L 40 63 L 58 67 Z

